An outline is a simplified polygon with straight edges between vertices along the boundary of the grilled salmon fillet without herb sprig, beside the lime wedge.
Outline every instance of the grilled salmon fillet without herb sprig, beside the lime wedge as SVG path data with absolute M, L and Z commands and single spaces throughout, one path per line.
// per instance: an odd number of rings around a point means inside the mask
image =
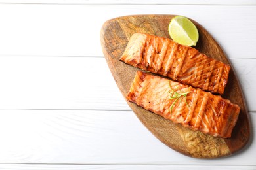
M 144 33 L 131 36 L 120 60 L 145 71 L 221 95 L 230 71 L 230 65 L 209 58 L 195 48 Z

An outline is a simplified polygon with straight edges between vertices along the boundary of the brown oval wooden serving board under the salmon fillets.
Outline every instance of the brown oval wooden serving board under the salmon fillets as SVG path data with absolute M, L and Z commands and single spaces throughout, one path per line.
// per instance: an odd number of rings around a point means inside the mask
M 135 72 L 139 70 L 119 61 L 129 38 L 133 33 L 149 33 L 170 38 L 168 25 L 171 18 L 173 18 L 173 15 L 123 16 L 108 20 L 102 26 L 100 33 L 102 50 L 117 86 L 124 97 L 129 92 Z M 194 21 L 192 20 L 192 22 Z M 228 61 L 228 58 L 213 37 L 200 24 L 197 22 L 194 22 L 194 24 L 198 28 L 200 35 L 198 44 L 194 48 L 211 58 L 230 64 L 230 61 Z M 174 124 L 170 120 L 165 120 L 152 112 L 148 112 L 134 103 L 127 103 L 144 126 L 170 148 L 194 158 L 219 158 L 230 156 L 242 150 L 245 144 L 248 143 L 250 136 L 247 106 L 234 69 L 230 71 L 223 97 L 230 99 L 232 103 L 236 103 L 241 107 L 238 122 L 230 139 L 192 131 L 179 124 Z

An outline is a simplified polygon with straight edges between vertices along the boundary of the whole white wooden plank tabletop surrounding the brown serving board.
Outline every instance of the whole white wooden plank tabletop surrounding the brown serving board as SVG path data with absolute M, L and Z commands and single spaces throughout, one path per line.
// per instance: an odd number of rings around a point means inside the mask
M 179 14 L 221 45 L 249 109 L 251 141 L 200 160 L 165 146 L 128 107 L 100 29 L 131 14 Z M 0 0 L 0 169 L 256 169 L 256 1 Z

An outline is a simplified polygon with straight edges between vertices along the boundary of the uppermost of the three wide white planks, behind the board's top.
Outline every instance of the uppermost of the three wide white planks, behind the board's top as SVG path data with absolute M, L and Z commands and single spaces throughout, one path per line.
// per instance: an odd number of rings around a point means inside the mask
M 213 35 L 229 58 L 255 57 L 255 5 L 51 4 L 0 4 L 0 56 L 102 56 L 104 22 L 131 14 L 188 16 Z

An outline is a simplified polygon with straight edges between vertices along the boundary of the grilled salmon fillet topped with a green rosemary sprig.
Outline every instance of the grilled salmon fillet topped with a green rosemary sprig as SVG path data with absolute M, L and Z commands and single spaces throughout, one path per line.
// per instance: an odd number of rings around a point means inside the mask
M 240 107 L 200 88 L 137 71 L 127 100 L 167 120 L 215 137 L 231 137 Z

